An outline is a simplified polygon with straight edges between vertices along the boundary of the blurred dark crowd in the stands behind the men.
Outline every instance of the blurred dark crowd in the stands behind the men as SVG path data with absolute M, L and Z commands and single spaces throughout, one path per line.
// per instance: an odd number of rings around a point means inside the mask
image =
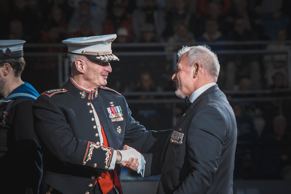
M 182 45 L 269 41 L 210 47 L 221 64 L 218 86 L 226 91 L 237 119 L 234 178 L 291 179 L 290 56 L 286 52 L 290 7 L 290 0 L 1 0 L 0 37 L 26 40 L 24 55 L 26 51 L 67 52 L 67 47 L 26 49 L 28 43 L 59 44 L 66 38 L 113 33 L 117 34 L 113 53 L 177 52 Z M 114 47 L 130 43 L 179 46 Z M 248 50 L 269 53 L 241 52 Z M 175 91 L 173 56 L 118 57 L 120 61 L 111 64 L 108 87 L 122 94 Z M 57 79 L 56 57 L 25 59 L 24 81 L 40 93 L 60 87 L 51 84 Z M 271 92 L 255 92 L 262 90 Z M 133 117 L 147 129 L 170 129 L 172 118 L 187 109 L 183 103 L 155 101 L 177 99 L 174 95 L 125 97 Z M 152 103 L 130 104 L 134 99 Z

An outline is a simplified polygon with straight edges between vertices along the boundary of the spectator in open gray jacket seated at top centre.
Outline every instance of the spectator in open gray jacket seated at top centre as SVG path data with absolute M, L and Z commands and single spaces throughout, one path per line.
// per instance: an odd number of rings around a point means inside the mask
M 144 6 L 132 12 L 132 28 L 135 37 L 141 35 L 141 28 L 147 23 L 153 24 L 157 38 L 162 38 L 166 28 L 164 10 L 157 7 L 156 0 L 143 0 Z

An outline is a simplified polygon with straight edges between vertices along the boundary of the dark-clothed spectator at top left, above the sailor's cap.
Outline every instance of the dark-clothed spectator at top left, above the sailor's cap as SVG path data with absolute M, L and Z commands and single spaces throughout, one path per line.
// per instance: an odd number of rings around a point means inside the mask
M 28 0 L 14 0 L 7 19 L 20 20 L 26 42 L 38 42 L 40 38 L 40 16 L 28 6 Z

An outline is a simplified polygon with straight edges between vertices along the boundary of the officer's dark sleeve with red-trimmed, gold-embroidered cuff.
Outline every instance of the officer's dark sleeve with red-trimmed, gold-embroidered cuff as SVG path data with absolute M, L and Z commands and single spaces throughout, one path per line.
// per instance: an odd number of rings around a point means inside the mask
M 62 162 L 106 172 L 113 149 L 74 137 L 65 115 L 54 101 L 40 95 L 33 104 L 36 134 L 48 151 Z

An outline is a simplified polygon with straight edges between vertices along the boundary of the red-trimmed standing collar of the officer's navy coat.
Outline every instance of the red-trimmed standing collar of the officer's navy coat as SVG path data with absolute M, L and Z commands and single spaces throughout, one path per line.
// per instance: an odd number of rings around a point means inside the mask
M 70 76 L 70 79 L 67 81 L 65 86 L 70 92 L 72 92 L 73 95 L 81 99 L 93 100 L 98 96 L 98 88 L 91 91 L 82 88 L 76 82 L 74 82 L 72 75 Z

